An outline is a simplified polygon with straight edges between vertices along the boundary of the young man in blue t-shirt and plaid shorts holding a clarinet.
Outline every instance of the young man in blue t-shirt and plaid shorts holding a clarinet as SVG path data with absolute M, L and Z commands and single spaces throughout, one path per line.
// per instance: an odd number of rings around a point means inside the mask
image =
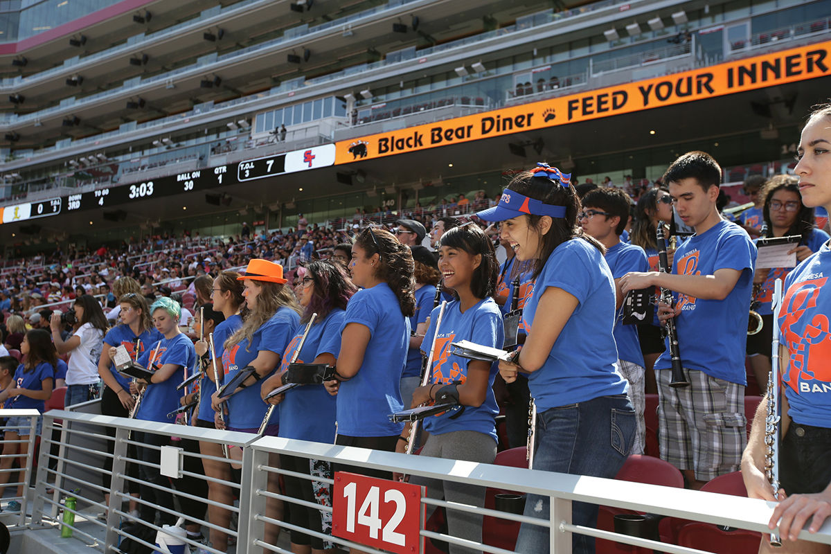
M 669 343 L 655 363 L 661 458 L 681 469 L 690 488 L 737 471 L 745 448 L 745 344 L 756 248 L 744 229 L 721 218 L 715 202 L 721 169 L 689 152 L 666 170 L 676 213 L 696 234 L 676 250 L 670 274 L 631 272 L 623 293 L 647 287 L 675 293 L 659 317 L 676 318 L 689 386 L 670 386 Z

